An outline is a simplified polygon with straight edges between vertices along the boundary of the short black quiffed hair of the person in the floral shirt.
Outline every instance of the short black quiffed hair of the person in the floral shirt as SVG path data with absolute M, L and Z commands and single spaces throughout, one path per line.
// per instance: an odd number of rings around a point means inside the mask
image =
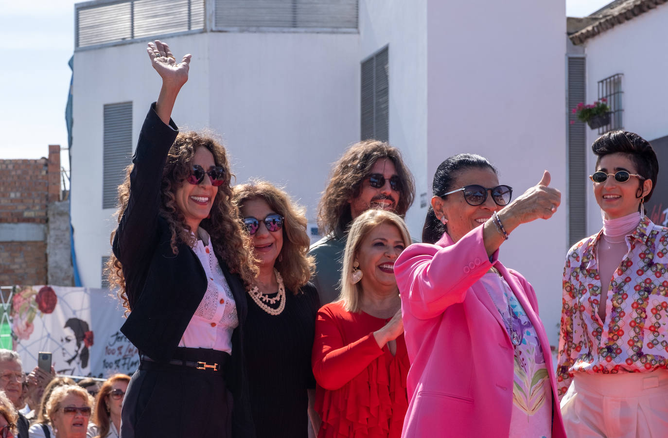
M 599 167 L 601 158 L 609 154 L 625 154 L 629 160 L 635 164 L 636 172 L 646 180 L 651 180 L 652 189 L 647 196 L 643 198 L 643 202 L 649 201 L 654 188 L 657 186 L 657 175 L 659 174 L 659 160 L 655 154 L 652 145 L 647 140 L 628 131 L 611 131 L 606 132 L 603 136 L 596 139 L 591 145 L 591 150 L 599 157 L 596 160 L 596 166 Z M 641 198 L 643 194 L 643 182 L 640 182 L 639 193 L 637 198 Z

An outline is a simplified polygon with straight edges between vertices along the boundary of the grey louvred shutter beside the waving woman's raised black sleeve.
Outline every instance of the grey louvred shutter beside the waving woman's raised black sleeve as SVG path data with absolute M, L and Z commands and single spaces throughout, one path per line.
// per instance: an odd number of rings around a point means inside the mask
M 132 162 L 132 102 L 104 105 L 102 149 L 102 208 L 114 208 L 118 186 Z

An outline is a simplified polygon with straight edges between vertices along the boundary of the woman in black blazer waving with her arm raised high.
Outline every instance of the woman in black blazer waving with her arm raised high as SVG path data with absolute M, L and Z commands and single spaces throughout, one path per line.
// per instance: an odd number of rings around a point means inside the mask
M 162 77 L 119 188 L 112 278 L 140 351 L 123 403 L 124 438 L 253 437 L 243 363 L 244 282 L 257 268 L 232 204 L 225 150 L 170 115 L 190 55 L 148 43 Z M 232 409 L 233 406 L 233 409 Z M 169 421 L 165 421 L 169 419 Z

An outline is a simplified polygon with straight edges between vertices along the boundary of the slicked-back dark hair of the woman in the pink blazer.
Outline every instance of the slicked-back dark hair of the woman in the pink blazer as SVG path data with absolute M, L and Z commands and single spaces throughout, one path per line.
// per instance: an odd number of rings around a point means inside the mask
M 487 158 L 476 154 L 457 154 L 450 158 L 446 158 L 439 164 L 434 174 L 434 182 L 432 183 L 432 192 L 434 196 L 442 196 L 444 193 L 453 190 L 457 177 L 464 171 L 469 169 L 490 169 L 494 174 L 496 168 Z M 441 223 L 434 213 L 434 208 L 429 206 L 427 210 L 427 217 L 424 219 L 424 226 L 422 226 L 422 242 L 436 243 L 443 236 L 443 233 L 448 231 L 448 226 Z

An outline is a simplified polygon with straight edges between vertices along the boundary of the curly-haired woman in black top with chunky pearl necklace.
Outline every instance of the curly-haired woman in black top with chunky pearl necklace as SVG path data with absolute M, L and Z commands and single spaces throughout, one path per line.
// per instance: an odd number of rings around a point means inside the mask
M 248 288 L 244 337 L 251 410 L 257 437 L 307 437 L 315 397 L 311 347 L 317 290 L 302 208 L 269 182 L 234 187 L 234 203 L 253 239 L 260 271 Z M 318 427 L 315 411 L 311 424 Z

